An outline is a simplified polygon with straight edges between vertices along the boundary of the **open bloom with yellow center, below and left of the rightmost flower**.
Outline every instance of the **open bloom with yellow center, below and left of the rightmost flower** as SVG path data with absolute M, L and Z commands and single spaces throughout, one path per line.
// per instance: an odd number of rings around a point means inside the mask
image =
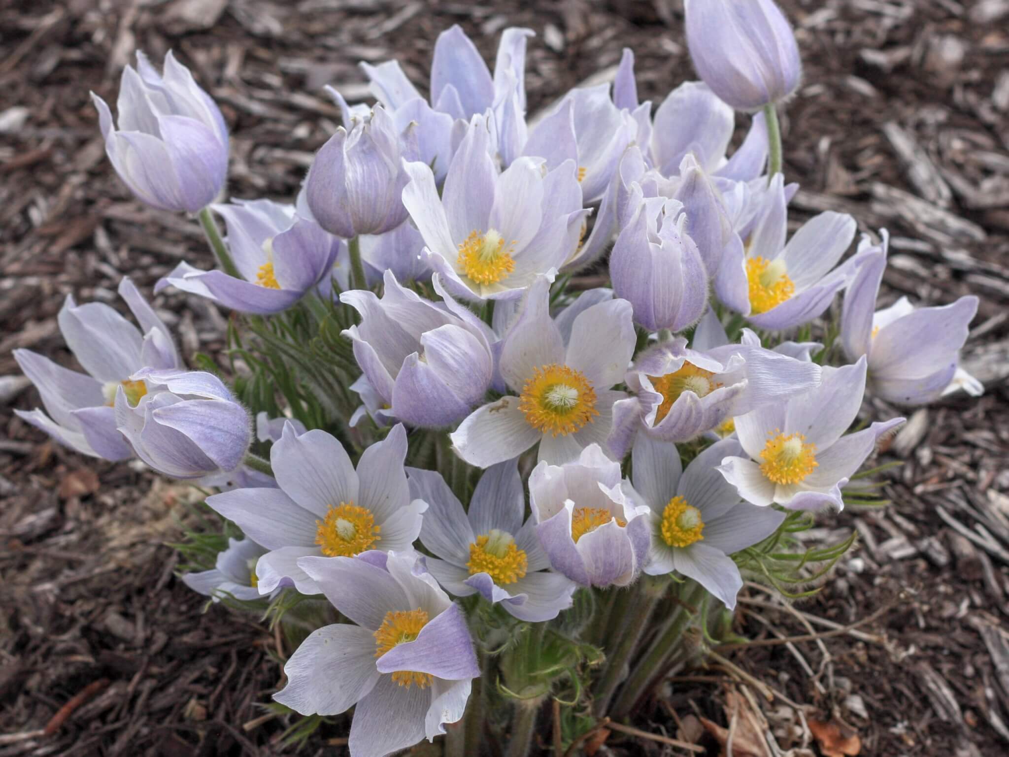
M 843 436 L 862 406 L 866 358 L 822 370 L 819 387 L 736 419 L 736 433 L 750 459 L 726 456 L 718 470 L 747 502 L 761 507 L 776 502 L 791 510 L 833 505 L 840 510 L 842 488 L 879 438 L 904 422 L 894 418 Z

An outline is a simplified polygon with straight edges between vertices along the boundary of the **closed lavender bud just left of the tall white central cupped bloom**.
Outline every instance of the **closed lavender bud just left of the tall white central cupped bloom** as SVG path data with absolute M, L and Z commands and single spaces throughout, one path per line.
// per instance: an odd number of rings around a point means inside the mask
M 407 220 L 403 160 L 417 157 L 414 127 L 401 133 L 385 109 L 374 106 L 349 132 L 337 128 L 316 153 L 305 180 L 313 217 L 344 239 L 391 231 Z

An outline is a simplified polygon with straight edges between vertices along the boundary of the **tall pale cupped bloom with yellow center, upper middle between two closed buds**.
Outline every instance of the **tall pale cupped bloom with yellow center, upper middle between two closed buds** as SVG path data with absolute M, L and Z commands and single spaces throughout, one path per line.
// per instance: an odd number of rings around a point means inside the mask
M 544 173 L 521 157 L 497 173 L 488 123 L 474 116 L 452 158 L 439 197 L 431 169 L 406 164 L 403 202 L 424 237 L 432 267 L 457 297 L 521 297 L 540 274 L 559 268 L 577 248 L 581 190 L 573 160 Z

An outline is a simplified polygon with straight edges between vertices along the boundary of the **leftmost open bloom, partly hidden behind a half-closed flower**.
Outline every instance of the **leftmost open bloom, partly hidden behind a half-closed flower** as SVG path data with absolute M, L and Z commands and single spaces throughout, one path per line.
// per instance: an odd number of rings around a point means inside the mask
M 61 444 L 107 460 L 133 456 L 129 442 L 116 430 L 113 405 L 119 387 L 136 405 L 148 387 L 131 379 L 135 372 L 182 366 L 171 332 L 129 279 L 120 282 L 119 296 L 139 329 L 108 305 L 77 305 L 69 296 L 57 317 L 67 346 L 87 372 L 68 370 L 28 349 L 14 350 L 14 359 L 45 407 L 45 412 L 15 410 L 18 417 Z

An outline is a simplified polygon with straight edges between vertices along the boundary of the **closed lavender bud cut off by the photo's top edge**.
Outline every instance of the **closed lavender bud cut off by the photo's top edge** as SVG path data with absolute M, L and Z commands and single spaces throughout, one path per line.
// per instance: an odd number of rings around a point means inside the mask
M 795 35 L 773 0 L 686 0 L 687 46 L 711 90 L 738 110 L 758 110 L 799 86 Z

